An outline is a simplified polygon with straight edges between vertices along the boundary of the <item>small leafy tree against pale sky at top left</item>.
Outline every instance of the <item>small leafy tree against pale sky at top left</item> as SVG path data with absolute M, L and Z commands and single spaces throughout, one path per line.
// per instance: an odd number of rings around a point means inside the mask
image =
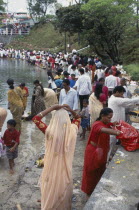
M 48 7 L 57 0 L 27 0 L 27 2 L 30 15 L 41 18 L 46 16 Z

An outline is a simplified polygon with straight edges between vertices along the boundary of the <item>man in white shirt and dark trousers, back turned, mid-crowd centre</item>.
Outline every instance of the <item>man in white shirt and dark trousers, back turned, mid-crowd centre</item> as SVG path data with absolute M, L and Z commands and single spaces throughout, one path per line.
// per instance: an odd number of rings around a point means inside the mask
M 79 69 L 79 72 L 81 76 L 77 80 L 75 87 L 77 87 L 77 92 L 79 94 L 80 100 L 80 109 L 82 110 L 83 100 L 89 99 L 89 96 L 92 92 L 92 85 L 90 77 L 84 74 L 84 69 Z

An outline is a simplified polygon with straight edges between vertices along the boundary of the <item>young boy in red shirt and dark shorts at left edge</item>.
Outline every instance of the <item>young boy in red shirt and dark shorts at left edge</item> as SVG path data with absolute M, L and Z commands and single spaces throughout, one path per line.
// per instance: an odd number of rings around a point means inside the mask
M 7 130 L 4 133 L 3 141 L 6 145 L 6 155 L 9 160 L 10 174 L 14 174 L 14 159 L 18 157 L 18 145 L 20 133 L 15 129 L 16 121 L 7 121 Z

